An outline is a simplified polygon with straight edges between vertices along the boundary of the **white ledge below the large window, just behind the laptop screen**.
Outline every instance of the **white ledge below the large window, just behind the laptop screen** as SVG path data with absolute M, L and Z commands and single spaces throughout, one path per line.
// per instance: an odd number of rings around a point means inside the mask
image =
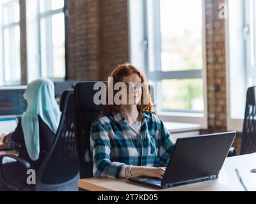
M 184 138 L 188 136 L 200 135 L 200 124 L 189 124 L 180 122 L 164 122 L 164 126 L 172 134 L 173 140 L 177 138 Z

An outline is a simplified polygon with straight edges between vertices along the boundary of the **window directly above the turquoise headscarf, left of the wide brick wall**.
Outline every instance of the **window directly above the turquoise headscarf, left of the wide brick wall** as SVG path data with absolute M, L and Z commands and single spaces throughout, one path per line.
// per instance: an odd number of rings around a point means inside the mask
M 28 69 L 34 70 L 28 71 L 29 81 L 38 77 L 65 78 L 64 0 L 27 0 L 26 3 Z

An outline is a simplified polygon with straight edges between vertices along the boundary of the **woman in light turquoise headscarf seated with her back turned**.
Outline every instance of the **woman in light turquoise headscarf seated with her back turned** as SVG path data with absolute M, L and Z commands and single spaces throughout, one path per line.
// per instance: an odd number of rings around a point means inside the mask
M 31 82 L 24 93 L 28 106 L 13 133 L 1 135 L 6 148 L 19 149 L 19 157 L 38 170 L 44 154 L 52 145 L 60 123 L 60 108 L 54 98 L 54 84 L 51 80 L 39 79 Z M 8 175 L 15 178 L 19 168 L 12 163 L 3 164 Z M 19 178 L 18 178 L 19 179 Z M 2 184 L 3 187 L 3 184 Z M 0 175 L 1 189 L 1 175 Z

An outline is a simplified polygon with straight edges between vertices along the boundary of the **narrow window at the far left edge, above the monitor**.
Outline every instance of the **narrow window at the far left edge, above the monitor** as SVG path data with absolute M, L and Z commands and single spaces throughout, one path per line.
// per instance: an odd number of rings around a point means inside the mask
M 0 85 L 20 84 L 19 0 L 1 1 L 0 13 Z

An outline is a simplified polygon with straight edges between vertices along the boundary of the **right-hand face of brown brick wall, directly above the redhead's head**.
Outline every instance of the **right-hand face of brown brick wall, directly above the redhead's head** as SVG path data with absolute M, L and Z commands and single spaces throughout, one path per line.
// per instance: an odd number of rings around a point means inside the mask
M 127 0 L 100 1 L 102 66 L 100 80 L 120 63 L 129 61 Z

